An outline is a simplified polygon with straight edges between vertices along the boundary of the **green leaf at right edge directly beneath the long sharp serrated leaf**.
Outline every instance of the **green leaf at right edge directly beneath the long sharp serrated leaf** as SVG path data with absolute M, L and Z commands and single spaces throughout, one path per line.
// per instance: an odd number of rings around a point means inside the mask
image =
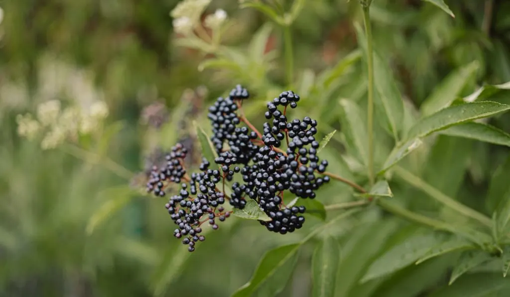
M 510 134 L 494 126 L 482 123 L 465 123 L 440 131 L 441 134 L 474 139 L 487 143 L 510 146 Z

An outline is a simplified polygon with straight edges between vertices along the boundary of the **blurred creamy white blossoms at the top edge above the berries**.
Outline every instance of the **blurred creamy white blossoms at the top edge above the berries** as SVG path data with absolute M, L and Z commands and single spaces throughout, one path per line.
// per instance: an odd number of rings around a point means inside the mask
M 200 16 L 211 0 L 184 0 L 170 12 L 173 18 L 173 29 L 176 33 L 189 35 L 200 24 Z M 227 14 L 218 9 L 205 19 L 205 24 L 212 30 L 220 28 L 225 22 Z

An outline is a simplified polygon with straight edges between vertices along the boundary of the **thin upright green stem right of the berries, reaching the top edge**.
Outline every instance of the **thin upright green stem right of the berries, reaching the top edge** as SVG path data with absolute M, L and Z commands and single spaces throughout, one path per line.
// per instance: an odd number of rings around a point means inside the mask
M 367 64 L 368 64 L 368 179 L 370 185 L 374 184 L 374 60 L 372 45 L 372 29 L 370 26 L 369 6 L 363 6 L 363 20 L 365 23 L 365 35 L 367 36 Z

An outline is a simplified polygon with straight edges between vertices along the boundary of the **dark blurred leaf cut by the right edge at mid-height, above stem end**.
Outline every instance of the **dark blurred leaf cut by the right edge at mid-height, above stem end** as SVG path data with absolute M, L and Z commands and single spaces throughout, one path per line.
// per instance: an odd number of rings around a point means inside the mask
M 485 198 L 486 207 L 490 212 L 494 212 L 505 199 L 510 199 L 508 172 L 510 172 L 510 156 L 506 158 L 503 164 L 498 166 L 491 177 L 489 191 Z

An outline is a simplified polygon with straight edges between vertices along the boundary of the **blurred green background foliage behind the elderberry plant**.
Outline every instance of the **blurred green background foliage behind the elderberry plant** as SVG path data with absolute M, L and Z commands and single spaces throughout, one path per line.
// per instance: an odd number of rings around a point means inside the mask
M 284 7 L 291 3 L 274 2 Z M 460 87 L 460 97 L 477 85 L 510 80 L 510 2 L 446 2 L 454 19 L 419 0 L 373 2 L 376 48 L 392 66 L 410 106 L 419 106 L 447 74 L 472 62 L 475 75 Z M 217 96 L 245 84 L 254 94 L 246 105 L 247 116 L 261 126 L 265 102 L 286 88 L 282 30 L 276 24 L 265 29 L 270 22 L 256 10 L 240 9 L 235 0 L 214 0 L 205 14 L 217 8 L 227 12 L 232 25 L 224 32 L 222 44 L 238 50 L 245 63 L 235 70 L 220 65 L 220 69 L 199 71 L 200 63 L 214 54 L 177 46 L 179 38 L 172 33 L 169 16 L 176 4 L 176 0 L 0 2 L 4 11 L 0 24 L 0 296 L 151 296 L 155 292 L 227 296 L 250 278 L 265 251 L 306 234 L 269 234 L 257 222 L 233 218 L 188 258 L 185 247 L 172 236 L 165 199 L 131 190 L 143 181 L 143 171 L 151 163 L 147 157 L 155 148 L 168 148 L 177 140 L 196 148 L 191 121 L 199 121 L 210 132 L 204 111 Z M 304 98 L 295 115 L 320 119 L 320 137 L 340 128 L 338 98 L 358 101 L 366 96 L 365 66 L 360 62 L 324 88 L 315 84 L 323 70 L 358 47 L 356 22 L 362 23 L 357 1 L 309 0 L 292 26 L 294 87 Z M 263 59 L 258 60 L 258 55 Z M 110 110 L 107 132 L 97 142 L 80 142 L 100 155 L 99 161 L 91 161 L 81 150 L 41 150 L 40 142 L 17 135 L 16 115 L 34 113 L 39 103 L 59 99 L 72 105 L 91 98 L 104 99 Z M 157 102 L 164 105 L 154 105 Z M 146 108 L 149 105 L 152 110 Z M 162 126 L 155 127 L 155 117 Z M 493 124 L 510 130 L 508 118 L 495 119 Z M 336 156 L 342 150 L 340 141 L 334 139 L 324 157 L 331 171 L 347 174 L 344 161 Z M 455 154 L 452 147 L 458 146 L 470 149 Z M 387 153 L 384 150 L 377 149 L 380 154 Z M 476 195 L 487 192 L 489 177 L 507 158 L 508 149 L 445 138 L 429 154 L 443 159 L 437 159 L 430 172 L 420 172 L 417 160 L 418 172 L 447 194 L 462 193 L 462 202 L 484 208 Z M 453 157 L 465 158 L 459 163 L 467 165 L 446 165 L 450 163 L 444 160 Z M 122 165 L 125 170 L 120 171 L 126 174 L 115 174 L 112 164 Z M 435 174 L 438 171 L 451 173 L 455 180 L 445 182 Z M 139 180 L 131 180 L 129 172 L 140 173 Z M 359 179 L 355 172 L 353 178 Z M 394 192 L 398 191 L 404 189 L 397 184 Z M 319 197 L 324 204 L 342 202 L 351 199 L 351 192 L 343 185 L 328 185 Z M 428 206 L 416 202 L 410 207 Z M 369 211 L 362 218 L 342 222 L 332 232 L 345 244 L 347 254 L 359 240 L 382 248 L 389 235 L 373 238 L 377 232 L 369 230 L 386 228 L 393 234 L 391 226 L 378 223 L 383 216 Z M 100 224 L 88 232 L 91 218 Z M 311 218 L 310 228 L 314 224 Z M 360 253 L 359 262 L 353 258 L 348 258 L 351 263 L 343 262 L 338 296 L 424 296 L 445 284 L 447 267 L 440 262 L 428 263 L 433 273 L 422 273 L 434 277 L 419 288 L 403 286 L 415 281 L 409 277 L 413 271 L 387 282 L 353 284 L 351 276 L 359 275 L 377 250 Z M 310 257 L 311 250 L 300 254 L 281 296 L 309 295 Z

